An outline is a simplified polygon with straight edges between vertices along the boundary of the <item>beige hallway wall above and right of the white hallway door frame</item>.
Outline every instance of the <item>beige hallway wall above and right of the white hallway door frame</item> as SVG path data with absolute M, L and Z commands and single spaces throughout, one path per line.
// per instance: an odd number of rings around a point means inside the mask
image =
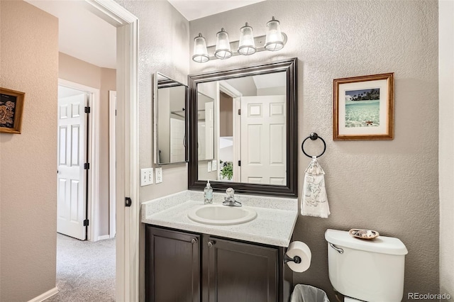
M 59 52 L 58 77 L 99 89 L 99 236 L 109 235 L 109 90 L 116 90 L 116 70 Z

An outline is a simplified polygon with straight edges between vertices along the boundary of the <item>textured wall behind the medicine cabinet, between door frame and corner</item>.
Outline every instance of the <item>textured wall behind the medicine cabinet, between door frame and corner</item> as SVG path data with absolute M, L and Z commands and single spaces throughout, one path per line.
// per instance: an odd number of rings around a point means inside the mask
M 152 74 L 183 84 L 189 73 L 189 22 L 167 1 L 116 0 L 139 19 L 139 168 L 153 164 Z M 160 184 L 140 187 L 140 202 L 187 189 L 187 164 L 162 166 Z M 140 301 L 145 300 L 145 228 L 140 227 Z

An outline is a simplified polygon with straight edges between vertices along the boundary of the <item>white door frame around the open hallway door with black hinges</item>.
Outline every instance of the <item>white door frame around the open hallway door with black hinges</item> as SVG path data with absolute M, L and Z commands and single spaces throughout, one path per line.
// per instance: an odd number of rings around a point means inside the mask
M 85 219 L 89 220 L 87 227 L 87 240 L 97 241 L 99 237 L 99 89 L 85 86 L 66 79 L 58 79 L 59 86 L 65 86 L 71 89 L 84 91 L 89 94 L 89 123 L 88 123 L 88 158 L 90 164 L 88 169 L 88 181 L 83 186 L 88 187 L 85 190 L 87 194 L 87 213 Z M 87 140 L 84 140 L 84 150 L 87 150 Z

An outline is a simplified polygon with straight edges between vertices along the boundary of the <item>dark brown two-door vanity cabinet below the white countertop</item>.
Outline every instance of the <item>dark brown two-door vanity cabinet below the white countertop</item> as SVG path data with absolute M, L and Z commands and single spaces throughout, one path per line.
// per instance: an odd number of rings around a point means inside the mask
M 153 302 L 287 302 L 284 248 L 146 226 L 145 295 Z

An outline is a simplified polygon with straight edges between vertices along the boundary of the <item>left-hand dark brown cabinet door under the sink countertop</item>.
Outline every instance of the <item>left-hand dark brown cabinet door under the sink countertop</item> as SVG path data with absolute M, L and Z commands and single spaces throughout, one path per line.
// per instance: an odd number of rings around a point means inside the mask
M 199 235 L 147 225 L 146 301 L 200 301 L 199 238 Z

